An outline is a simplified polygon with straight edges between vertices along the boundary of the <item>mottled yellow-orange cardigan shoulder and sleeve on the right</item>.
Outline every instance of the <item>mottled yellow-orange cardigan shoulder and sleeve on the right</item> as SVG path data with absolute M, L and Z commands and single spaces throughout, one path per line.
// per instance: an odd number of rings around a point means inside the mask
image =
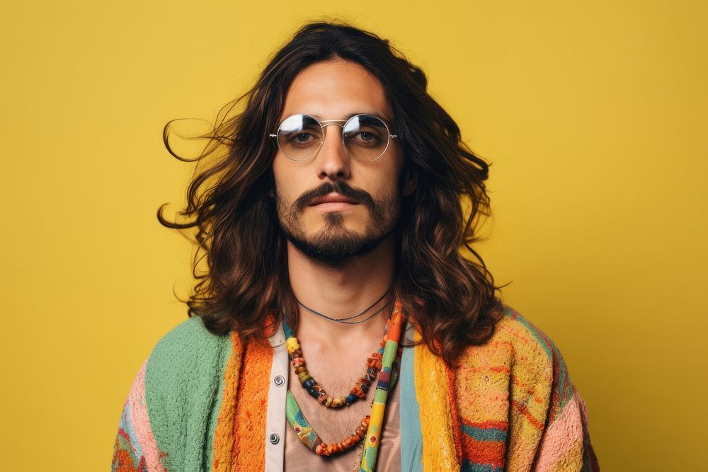
M 596 470 L 584 465 L 593 464 L 587 412 L 558 347 L 510 306 L 486 343 L 464 351 L 455 391 L 464 434 L 489 437 L 496 425 L 510 444 L 505 469 Z

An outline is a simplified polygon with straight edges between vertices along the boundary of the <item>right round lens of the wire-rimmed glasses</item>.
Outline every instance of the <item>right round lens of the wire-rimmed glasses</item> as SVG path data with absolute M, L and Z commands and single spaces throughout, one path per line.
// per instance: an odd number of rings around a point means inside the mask
M 389 129 L 374 115 L 356 115 L 344 126 L 344 144 L 360 161 L 378 159 L 389 145 Z

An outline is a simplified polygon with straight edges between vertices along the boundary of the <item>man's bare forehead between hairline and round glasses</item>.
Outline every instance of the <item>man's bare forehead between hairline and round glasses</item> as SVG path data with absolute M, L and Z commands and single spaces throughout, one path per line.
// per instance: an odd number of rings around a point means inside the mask
M 356 113 L 373 113 L 389 122 L 394 118 L 381 82 L 360 64 L 338 58 L 312 64 L 295 76 L 280 120 L 295 113 L 324 120 Z

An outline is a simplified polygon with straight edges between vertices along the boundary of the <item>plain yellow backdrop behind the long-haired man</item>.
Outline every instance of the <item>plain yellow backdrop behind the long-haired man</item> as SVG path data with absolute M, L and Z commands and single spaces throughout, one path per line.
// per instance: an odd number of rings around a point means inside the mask
M 581 5 L 581 3 L 583 5 Z M 479 250 L 559 345 L 605 471 L 705 470 L 708 15 L 700 1 L 7 2 L 1 468 L 101 471 L 190 247 L 156 221 L 212 117 L 302 21 L 389 38 L 491 166 Z

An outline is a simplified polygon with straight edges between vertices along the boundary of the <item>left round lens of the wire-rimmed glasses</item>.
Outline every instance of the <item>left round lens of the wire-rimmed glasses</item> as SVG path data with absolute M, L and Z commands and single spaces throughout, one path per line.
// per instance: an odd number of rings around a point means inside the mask
M 307 161 L 322 142 L 322 127 L 309 115 L 292 115 L 280 123 L 278 146 L 293 161 Z

